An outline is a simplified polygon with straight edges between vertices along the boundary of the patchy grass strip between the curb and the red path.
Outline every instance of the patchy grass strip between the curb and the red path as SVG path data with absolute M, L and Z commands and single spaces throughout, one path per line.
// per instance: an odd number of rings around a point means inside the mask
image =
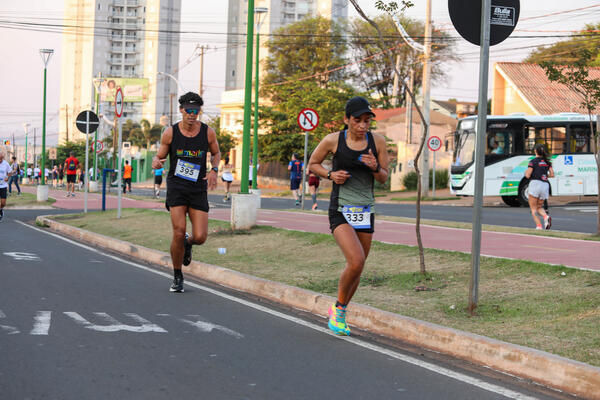
M 165 212 L 125 209 L 61 222 L 168 252 Z M 149 233 L 151 232 L 151 233 Z M 226 254 L 217 249 L 224 247 Z M 344 267 L 331 235 L 258 226 L 232 232 L 209 221 L 194 259 L 261 278 L 335 295 Z M 428 274 L 418 273 L 416 248 L 373 242 L 353 301 L 600 366 L 600 273 L 547 264 L 481 258 L 480 303 L 466 311 L 470 256 L 426 250 Z

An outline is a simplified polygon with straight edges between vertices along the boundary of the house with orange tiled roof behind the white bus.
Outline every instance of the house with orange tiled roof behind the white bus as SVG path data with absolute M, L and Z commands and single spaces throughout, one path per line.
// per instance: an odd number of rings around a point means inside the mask
M 600 68 L 590 68 L 590 77 L 600 79 Z M 546 115 L 562 112 L 587 113 L 582 97 L 567 86 L 550 82 L 537 64 L 499 62 L 494 65 L 492 114 Z M 600 108 L 596 109 L 596 113 Z

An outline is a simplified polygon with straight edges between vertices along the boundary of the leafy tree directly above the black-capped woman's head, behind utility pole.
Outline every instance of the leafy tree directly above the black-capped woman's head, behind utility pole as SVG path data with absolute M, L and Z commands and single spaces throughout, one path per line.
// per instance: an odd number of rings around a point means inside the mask
M 407 17 L 398 17 L 406 32 L 412 37 L 421 37 L 417 41 L 423 41 L 425 25 L 421 21 L 413 20 Z M 421 77 L 423 75 L 423 64 L 419 59 L 419 54 L 407 46 L 403 41 L 399 41 L 398 31 L 391 15 L 380 15 L 373 18 L 384 36 L 386 48 L 393 48 L 390 57 L 381 54 L 382 49 L 377 40 L 377 31 L 367 21 L 355 19 L 350 26 L 351 39 L 350 48 L 352 49 L 353 59 L 363 60 L 356 64 L 357 72 L 354 75 L 356 81 L 366 91 L 375 91 L 378 96 L 378 102 L 382 107 L 392 106 L 393 83 L 395 76 L 395 63 L 399 57 L 400 71 L 399 79 L 405 81 L 410 77 L 411 70 L 414 72 L 414 91 L 417 92 L 421 87 Z M 441 33 L 436 37 L 436 43 L 432 46 L 432 77 L 434 80 L 445 78 L 443 62 L 453 60 L 452 46 L 447 41 L 449 35 Z M 379 55 L 377 55 L 379 54 Z M 390 64 L 389 62 L 393 63 Z M 406 104 L 408 94 L 404 87 L 400 87 L 398 92 L 398 104 Z

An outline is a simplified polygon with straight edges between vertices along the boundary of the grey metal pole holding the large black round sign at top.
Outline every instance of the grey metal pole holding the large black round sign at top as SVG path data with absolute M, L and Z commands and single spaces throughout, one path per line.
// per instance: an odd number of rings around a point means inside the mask
M 475 312 L 479 301 L 479 261 L 481 252 L 485 134 L 487 128 L 491 13 L 491 0 L 483 0 L 481 7 L 481 48 L 479 56 L 479 105 L 477 131 L 475 134 L 475 196 L 473 198 L 473 233 L 471 239 L 471 279 L 469 282 L 469 312 L 471 314 Z

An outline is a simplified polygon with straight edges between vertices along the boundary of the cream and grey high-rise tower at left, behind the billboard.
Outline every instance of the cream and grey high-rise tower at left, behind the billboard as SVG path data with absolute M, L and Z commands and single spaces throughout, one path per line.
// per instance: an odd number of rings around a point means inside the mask
M 115 82 L 127 88 L 124 119 L 158 123 L 177 112 L 177 84 L 158 73 L 177 75 L 181 0 L 65 0 L 64 9 L 59 143 L 83 138 L 74 119 L 95 107 L 98 77 L 109 120 Z

